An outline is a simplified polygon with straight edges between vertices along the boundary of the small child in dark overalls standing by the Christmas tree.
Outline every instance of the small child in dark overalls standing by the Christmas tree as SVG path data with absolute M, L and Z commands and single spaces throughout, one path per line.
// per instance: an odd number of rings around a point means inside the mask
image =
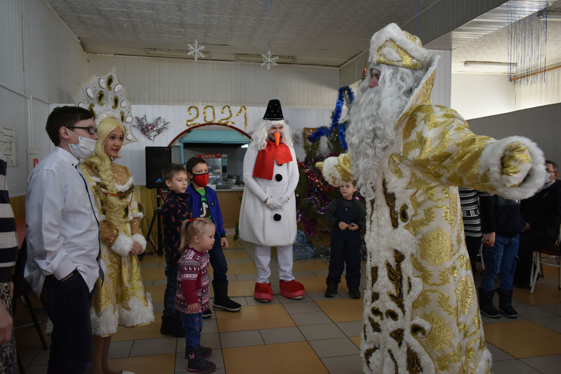
M 366 226 L 366 209 L 355 198 L 356 181 L 341 186 L 341 195 L 329 204 L 325 220 L 331 225 L 331 258 L 325 297 L 333 297 L 347 263 L 347 287 L 353 299 L 360 298 L 360 230 Z

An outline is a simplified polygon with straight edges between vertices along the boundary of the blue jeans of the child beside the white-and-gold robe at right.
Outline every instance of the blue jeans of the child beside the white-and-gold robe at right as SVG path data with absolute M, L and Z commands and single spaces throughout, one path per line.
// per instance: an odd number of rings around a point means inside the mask
M 495 278 L 500 277 L 500 288 L 511 290 L 516 270 L 516 255 L 518 254 L 518 235 L 507 238 L 495 236 L 493 247 L 484 246 L 483 260 L 485 269 L 481 278 L 481 288 L 492 291 L 495 289 Z

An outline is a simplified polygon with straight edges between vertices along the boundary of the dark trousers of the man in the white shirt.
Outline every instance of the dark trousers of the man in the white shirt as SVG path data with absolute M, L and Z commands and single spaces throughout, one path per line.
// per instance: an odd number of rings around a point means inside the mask
M 90 308 L 94 291 L 80 273 L 61 282 L 48 275 L 42 302 L 53 322 L 48 374 L 88 374 L 93 364 Z

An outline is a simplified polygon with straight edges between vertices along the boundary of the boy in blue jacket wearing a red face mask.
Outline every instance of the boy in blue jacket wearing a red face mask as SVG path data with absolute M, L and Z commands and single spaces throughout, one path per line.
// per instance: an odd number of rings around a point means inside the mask
M 228 264 L 224 257 L 223 248 L 228 248 L 226 230 L 222 227 L 222 212 L 218 204 L 218 197 L 212 188 L 206 187 L 209 181 L 209 169 L 206 161 L 198 157 L 187 160 L 187 176 L 191 184 L 187 187 L 189 193 L 189 204 L 191 205 L 194 218 L 205 218 L 213 221 L 216 226 L 214 233 L 214 246 L 209 251 L 210 265 L 213 267 L 214 279 L 212 287 L 214 290 L 213 308 L 227 312 L 237 312 L 242 306 L 228 297 Z M 206 311 L 210 314 L 210 309 Z

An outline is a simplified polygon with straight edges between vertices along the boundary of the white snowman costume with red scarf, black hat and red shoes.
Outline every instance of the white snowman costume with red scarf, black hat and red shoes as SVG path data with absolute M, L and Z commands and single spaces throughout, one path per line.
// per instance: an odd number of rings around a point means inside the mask
M 269 133 L 282 125 L 275 141 Z M 240 238 L 255 244 L 257 283 L 254 297 L 273 299 L 269 283 L 271 246 L 277 247 L 280 294 L 302 298 L 304 286 L 292 276 L 292 244 L 296 240 L 296 198 L 298 165 L 291 132 L 282 115 L 279 100 L 270 100 L 263 121 L 257 123 L 251 145 L 243 159 L 243 190 Z M 265 202 L 266 201 L 266 202 Z

